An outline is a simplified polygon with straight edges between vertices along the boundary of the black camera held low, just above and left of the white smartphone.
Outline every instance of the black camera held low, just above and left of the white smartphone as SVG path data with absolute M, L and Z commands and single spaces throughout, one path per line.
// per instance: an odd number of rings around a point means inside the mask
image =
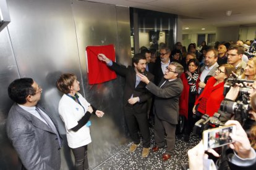
M 224 124 L 220 121 L 220 113 L 214 113 L 213 116 L 204 114 L 200 120 L 195 123 L 193 133 L 201 136 L 203 131 L 213 127 L 223 126 Z

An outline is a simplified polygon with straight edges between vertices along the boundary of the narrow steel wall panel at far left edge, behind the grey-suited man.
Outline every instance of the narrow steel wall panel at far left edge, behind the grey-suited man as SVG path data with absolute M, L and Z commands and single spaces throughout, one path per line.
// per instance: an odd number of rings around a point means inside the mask
M 7 28 L 0 32 L 0 169 L 17 169 L 18 157 L 6 136 L 6 118 L 11 108 L 7 87 L 19 78 Z

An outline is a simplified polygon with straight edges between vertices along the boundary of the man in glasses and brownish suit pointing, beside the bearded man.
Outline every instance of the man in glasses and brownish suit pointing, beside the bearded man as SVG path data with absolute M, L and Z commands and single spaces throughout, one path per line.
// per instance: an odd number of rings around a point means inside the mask
M 158 86 L 153 84 L 146 76 L 139 74 L 141 81 L 147 84 L 146 88 L 155 95 L 153 111 L 155 113 L 155 140 L 156 146 L 152 148 L 157 152 L 164 147 L 164 131 L 166 132 L 167 149 L 162 160 L 168 160 L 174 153 L 175 131 L 179 115 L 179 96 L 183 84 L 179 78 L 183 67 L 177 62 L 170 63 L 166 68 L 163 79 Z

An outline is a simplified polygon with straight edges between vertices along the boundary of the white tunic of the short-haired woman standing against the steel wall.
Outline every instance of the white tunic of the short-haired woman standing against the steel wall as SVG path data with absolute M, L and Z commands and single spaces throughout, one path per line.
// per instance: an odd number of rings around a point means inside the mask
M 77 126 L 77 121 L 85 115 L 85 112 L 90 106 L 90 103 L 88 103 L 81 94 L 77 94 L 79 95 L 79 101 L 83 107 L 66 94 L 62 95 L 61 100 L 59 100 L 59 115 L 65 123 L 67 144 L 70 148 L 82 147 L 92 142 L 89 127 L 83 126 L 76 132 L 72 131 L 72 128 Z M 85 111 L 83 108 L 85 108 Z

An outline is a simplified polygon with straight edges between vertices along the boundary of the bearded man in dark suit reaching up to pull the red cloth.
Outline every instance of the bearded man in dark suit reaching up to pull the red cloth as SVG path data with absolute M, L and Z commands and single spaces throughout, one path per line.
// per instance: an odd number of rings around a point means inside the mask
M 142 73 L 150 81 L 154 76 L 146 71 L 146 58 L 142 54 L 135 54 L 132 58 L 134 67 L 122 67 L 109 60 L 104 54 L 98 54 L 98 59 L 106 62 L 111 70 L 116 71 L 126 78 L 124 87 L 124 117 L 128 130 L 134 144 L 130 146 L 130 152 L 134 152 L 140 144 L 138 131 L 142 134 L 143 150 L 142 157 L 147 157 L 150 151 L 150 131 L 147 120 L 147 100 L 151 98 L 151 93 L 145 88 L 146 84 L 140 81 L 137 73 Z M 139 127 L 138 127 L 139 125 Z

